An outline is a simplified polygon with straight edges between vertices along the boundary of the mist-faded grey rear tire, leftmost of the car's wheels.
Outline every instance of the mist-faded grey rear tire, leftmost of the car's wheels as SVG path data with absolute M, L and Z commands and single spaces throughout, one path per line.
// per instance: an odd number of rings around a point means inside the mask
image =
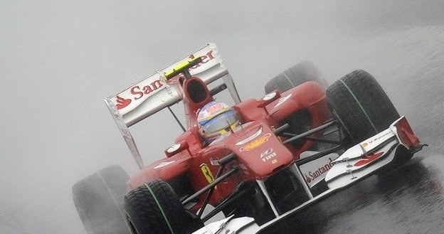
M 97 171 L 73 186 L 73 200 L 88 234 L 131 233 L 123 210 L 128 174 L 120 166 Z

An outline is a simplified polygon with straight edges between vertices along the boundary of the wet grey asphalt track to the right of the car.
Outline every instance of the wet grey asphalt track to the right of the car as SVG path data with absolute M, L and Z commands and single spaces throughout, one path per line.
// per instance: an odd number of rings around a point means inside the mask
M 398 61 L 390 68 L 375 64 L 374 76 L 430 147 L 395 171 L 371 176 L 297 214 L 273 233 L 444 233 L 443 39 L 444 27 L 428 26 L 366 43 L 372 54 Z M 383 40 L 384 48 L 376 46 Z

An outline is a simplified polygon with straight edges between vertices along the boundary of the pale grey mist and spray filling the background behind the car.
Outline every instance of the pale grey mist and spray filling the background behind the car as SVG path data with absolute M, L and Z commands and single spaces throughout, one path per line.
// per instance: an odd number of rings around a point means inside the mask
M 112 164 L 137 170 L 102 98 L 203 43 L 216 43 L 242 98 L 261 97 L 301 60 L 330 81 L 393 75 L 405 58 L 396 40 L 442 25 L 443 12 L 440 1 L 0 0 L 0 223 L 84 233 L 71 186 Z M 146 163 L 180 131 L 164 114 L 131 130 Z

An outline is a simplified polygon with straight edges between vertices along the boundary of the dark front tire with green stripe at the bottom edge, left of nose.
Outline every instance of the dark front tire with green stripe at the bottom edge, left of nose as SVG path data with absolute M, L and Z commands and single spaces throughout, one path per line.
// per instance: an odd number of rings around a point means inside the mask
M 186 211 L 173 188 L 161 180 L 127 193 L 124 207 L 134 234 L 188 234 L 203 227 L 201 219 Z

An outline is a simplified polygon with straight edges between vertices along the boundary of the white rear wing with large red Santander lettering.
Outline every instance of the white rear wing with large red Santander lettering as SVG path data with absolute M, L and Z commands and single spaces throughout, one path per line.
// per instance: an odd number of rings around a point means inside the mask
M 216 87 L 215 92 L 228 89 L 233 101 L 239 103 L 240 97 L 233 79 L 228 73 L 216 45 L 213 43 L 207 43 L 202 48 L 186 55 L 166 68 L 158 70 L 138 83 L 127 87 L 117 95 L 105 98 L 108 110 L 110 110 L 117 127 L 119 127 L 125 142 L 127 142 L 139 169 L 142 169 L 144 165 L 139 150 L 129 132 L 129 127 L 182 100 L 181 85 L 178 82 L 167 81 L 165 73 L 198 56 L 201 57 L 201 63 L 191 67 L 189 73 L 201 78 L 207 85 L 215 80 L 222 79 L 223 84 Z

